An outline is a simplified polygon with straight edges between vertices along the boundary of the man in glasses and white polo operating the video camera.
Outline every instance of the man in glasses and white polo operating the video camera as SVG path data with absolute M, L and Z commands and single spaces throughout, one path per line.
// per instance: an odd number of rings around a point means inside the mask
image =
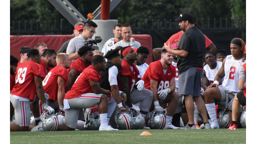
M 87 21 L 84 24 L 84 29 L 82 34 L 70 40 L 67 47 L 67 54 L 69 55 L 69 58 L 71 61 L 74 61 L 79 58 L 77 51 L 82 46 L 84 46 L 86 41 L 92 40 L 91 39 L 92 36 L 96 33 L 95 32 L 96 27 L 97 27 L 96 23 L 94 23 L 93 21 Z

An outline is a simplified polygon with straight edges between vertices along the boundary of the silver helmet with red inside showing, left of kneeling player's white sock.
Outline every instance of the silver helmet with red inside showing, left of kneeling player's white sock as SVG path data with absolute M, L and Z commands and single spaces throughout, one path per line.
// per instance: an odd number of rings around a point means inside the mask
M 84 124 L 84 128 L 87 130 L 99 130 L 100 127 L 100 115 L 99 108 L 96 106 L 91 107 L 88 112 L 88 117 L 86 118 L 86 122 Z

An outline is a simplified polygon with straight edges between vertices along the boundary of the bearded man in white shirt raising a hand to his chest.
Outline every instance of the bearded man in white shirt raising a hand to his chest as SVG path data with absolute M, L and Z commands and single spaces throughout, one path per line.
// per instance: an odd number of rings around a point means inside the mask
M 123 24 L 121 26 L 121 34 L 123 36 L 123 40 L 117 42 L 114 45 L 114 48 L 117 46 L 131 46 L 132 48 L 140 47 L 140 43 L 135 41 L 135 39 L 132 37 L 132 30 L 131 26 L 129 24 Z

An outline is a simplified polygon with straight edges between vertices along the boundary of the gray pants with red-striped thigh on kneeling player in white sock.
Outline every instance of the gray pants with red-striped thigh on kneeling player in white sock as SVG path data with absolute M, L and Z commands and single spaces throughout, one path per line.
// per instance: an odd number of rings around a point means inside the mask
M 76 128 L 79 111 L 81 109 L 90 108 L 100 103 L 102 94 L 87 93 L 80 97 L 68 99 L 69 109 L 65 111 L 65 123 L 70 128 Z

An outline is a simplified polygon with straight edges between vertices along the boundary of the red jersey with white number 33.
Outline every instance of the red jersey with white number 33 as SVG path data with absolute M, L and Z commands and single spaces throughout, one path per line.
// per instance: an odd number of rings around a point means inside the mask
M 16 84 L 13 87 L 11 94 L 28 98 L 33 102 L 36 94 L 34 77 L 40 76 L 45 78 L 42 67 L 38 63 L 29 60 L 18 67 L 16 76 Z

